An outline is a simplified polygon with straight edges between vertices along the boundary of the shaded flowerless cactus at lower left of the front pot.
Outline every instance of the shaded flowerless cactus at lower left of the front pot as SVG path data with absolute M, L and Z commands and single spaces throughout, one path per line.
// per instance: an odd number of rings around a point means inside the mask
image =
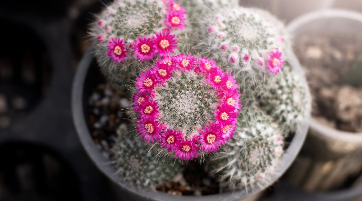
M 112 163 L 124 183 L 135 189 L 155 190 L 181 171 L 181 164 L 172 158 L 157 160 L 155 147 L 145 145 L 132 124 L 128 126 L 128 131 L 117 131 L 119 137 L 112 149 Z

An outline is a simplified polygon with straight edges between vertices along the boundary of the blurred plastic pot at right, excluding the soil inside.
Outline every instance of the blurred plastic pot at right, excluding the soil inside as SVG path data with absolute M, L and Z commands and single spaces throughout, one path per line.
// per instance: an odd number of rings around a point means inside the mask
M 294 38 L 362 34 L 362 14 L 340 9 L 319 10 L 296 18 L 287 29 Z M 362 78 L 359 82 L 362 85 Z M 290 183 L 308 191 L 330 191 L 346 182 L 351 183 L 351 176 L 360 174 L 362 178 L 361 172 L 362 133 L 340 131 L 312 118 L 306 144 L 287 178 Z M 355 193 L 362 196 L 362 191 Z

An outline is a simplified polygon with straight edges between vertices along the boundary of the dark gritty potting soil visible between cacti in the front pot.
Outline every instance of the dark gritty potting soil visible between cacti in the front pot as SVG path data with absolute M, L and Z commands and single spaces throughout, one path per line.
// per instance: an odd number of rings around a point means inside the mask
M 90 134 L 104 157 L 111 159 L 111 148 L 117 135 L 129 126 L 127 108 L 132 106 L 125 94 L 107 84 L 99 84 L 88 98 L 88 127 Z M 192 184 L 192 185 L 191 185 Z M 208 195 L 219 193 L 219 183 L 210 178 L 200 161 L 191 161 L 182 174 L 157 187 L 158 191 L 177 195 Z

